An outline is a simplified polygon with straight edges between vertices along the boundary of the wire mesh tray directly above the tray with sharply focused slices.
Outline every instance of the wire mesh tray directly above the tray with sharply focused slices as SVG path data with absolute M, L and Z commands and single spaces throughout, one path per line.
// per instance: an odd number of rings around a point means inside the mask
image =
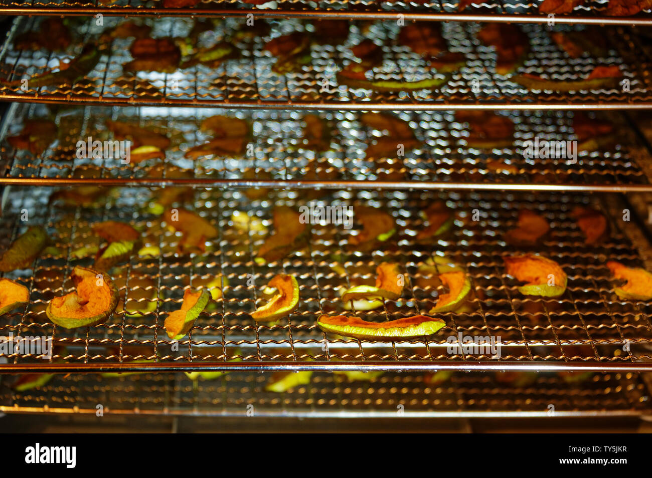
M 405 156 L 378 160 L 367 158 L 366 148 L 378 139 L 378 132 L 361 122 L 357 112 L 323 112 L 319 117 L 331 135 L 331 149 L 308 150 L 302 133 L 304 113 L 297 111 L 233 111 L 211 108 L 167 107 L 77 107 L 55 115 L 43 105 L 20 105 L 5 118 L 5 137 L 20 134 L 26 120 L 53 118 L 58 138 L 42 154 L 0 146 L 0 167 L 5 178 L 79 178 L 89 167 L 102 178 L 123 181 L 134 178 L 212 178 L 214 180 L 294 180 L 298 187 L 312 188 L 302 180 L 370 181 L 400 180 L 419 184 L 452 182 L 495 185 L 559 184 L 628 185 L 649 184 L 647 177 L 626 147 L 605 145 L 601 150 L 578 152 L 576 160 L 526 158 L 524 141 L 538 137 L 542 141 L 576 139 L 573 113 L 499 114 L 514 122 L 514 146 L 479 150 L 469 148 L 469 127 L 456 120 L 452 111 L 404 112 L 421 145 L 406 150 Z M 244 119 L 252 126 L 250 147 L 243 155 L 208 155 L 186 158 L 190 148 L 210 139 L 201 132 L 201 121 L 212 115 Z M 610 117 L 618 134 L 615 143 L 624 142 L 629 126 Z M 119 158 L 77 158 L 76 144 L 115 139 L 107 122 L 147 126 L 171 138 L 164 162 L 158 159 L 123 164 Z M 400 139 L 396 139 L 397 142 Z M 638 158 L 638 154 L 636 155 Z M 644 161 L 644 158 L 640 158 Z M 160 167 L 161 164 L 164 167 Z M 497 167 L 496 165 L 500 165 Z M 514 169 L 509 169 L 514 168 Z M 172 173 L 174 172 L 174 174 Z M 88 173 L 86 174 L 88 176 Z

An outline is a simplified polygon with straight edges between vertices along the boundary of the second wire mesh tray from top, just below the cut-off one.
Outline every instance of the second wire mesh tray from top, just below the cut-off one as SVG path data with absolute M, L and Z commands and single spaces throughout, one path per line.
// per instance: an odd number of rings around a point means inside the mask
M 37 28 L 38 19 L 23 19 L 20 31 Z M 530 38 L 531 53 L 519 72 L 543 75 L 551 79 L 576 80 L 588 76 L 595 66 L 617 65 L 623 78 L 629 82 L 627 91 L 617 86 L 595 91 L 531 92 L 513 83 L 510 76 L 496 73 L 496 51 L 482 45 L 475 35 L 477 23 L 449 22 L 443 24 L 449 49 L 464 53 L 467 62 L 438 90 L 415 92 L 371 92 L 337 85 L 336 70 L 353 56 L 350 47 L 363 38 L 383 43 L 383 64 L 375 69 L 381 79 L 420 81 L 445 77 L 432 72 L 426 61 L 408 47 L 398 44 L 400 27 L 396 21 L 379 21 L 368 25 L 352 24 L 348 39 L 342 45 L 313 44 L 311 62 L 300 72 L 276 74 L 272 66 L 276 59 L 264 49 L 269 36 L 256 38 L 249 44 L 239 44 L 241 59 L 225 61 L 217 68 L 193 66 L 174 73 L 138 72 L 128 75 L 123 64 L 131 60 L 130 40 L 116 39 L 110 45 L 110 54 L 102 55 L 96 67 L 72 86 L 29 86 L 29 79 L 58 61 L 79 53 L 83 44 L 96 40 L 103 31 L 121 21 L 106 18 L 98 27 L 95 19 L 80 23 L 78 41 L 65 55 L 53 55 L 42 50 L 17 51 L 13 48 L 13 34 L 8 36 L 0 60 L 0 78 L 27 79 L 27 85 L 0 87 L 0 99 L 21 102 L 68 102 L 83 104 L 147 104 L 188 106 L 230 106 L 281 109 L 456 109 L 462 107 L 526 109 L 528 107 L 556 107 L 563 109 L 587 107 L 649 107 L 649 57 L 632 53 L 630 32 L 617 27 L 612 35 L 612 48 L 603 58 L 589 55 L 571 59 L 550 39 L 542 25 L 523 25 Z M 153 26 L 154 37 L 185 38 L 194 20 L 161 18 L 144 20 Z M 228 38 L 243 28 L 237 19 L 220 22 L 213 31 L 200 36 L 200 44 L 210 46 L 216 40 Z M 287 20 L 275 23 L 272 37 L 293 31 L 312 31 L 310 23 Z M 18 31 L 19 25 L 14 28 Z M 247 28 L 244 25 L 244 28 Z M 559 28 L 564 28 L 560 25 Z M 362 33 L 364 29 L 365 33 Z M 605 32 L 606 33 L 606 32 Z M 204 43 L 205 42 L 205 43 Z M 346 61 L 345 61 L 346 60 Z M 143 83 L 145 82 L 145 83 Z M 327 83 L 325 83 L 327 82 Z M 143 86 L 145 85 L 145 86 Z M 23 91 L 23 87 L 27 89 Z

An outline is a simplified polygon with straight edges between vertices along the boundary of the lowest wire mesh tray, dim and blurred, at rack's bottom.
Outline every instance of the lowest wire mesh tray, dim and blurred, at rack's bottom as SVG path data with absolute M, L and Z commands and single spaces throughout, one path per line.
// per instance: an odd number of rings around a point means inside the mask
M 385 373 L 367 380 L 313 373 L 310 383 L 269 391 L 273 374 L 229 373 L 192 382 L 184 374 L 57 375 L 13 391 L 0 384 L 0 411 L 105 415 L 299 417 L 569 417 L 649 415 L 649 391 L 636 373 Z

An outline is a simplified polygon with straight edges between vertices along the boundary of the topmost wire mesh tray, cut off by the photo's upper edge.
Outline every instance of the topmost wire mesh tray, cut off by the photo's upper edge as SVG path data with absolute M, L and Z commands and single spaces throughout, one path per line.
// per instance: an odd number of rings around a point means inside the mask
M 370 0 L 289 0 L 272 1 L 254 6 L 235 0 L 205 0 L 186 8 L 163 7 L 159 1 L 117 0 L 111 3 L 95 1 L 12 1 L 0 2 L 7 15 L 103 15 L 119 16 L 246 16 L 256 14 L 265 18 L 390 18 L 400 13 L 408 20 L 436 21 L 529 21 L 548 23 L 548 14 L 539 11 L 539 1 L 500 0 L 477 2 L 460 8 L 458 1 L 424 1 L 418 4 L 406 1 Z M 630 17 L 610 16 L 606 12 L 608 0 L 586 1 L 570 14 L 556 15 L 559 23 L 600 23 L 649 25 L 649 12 Z

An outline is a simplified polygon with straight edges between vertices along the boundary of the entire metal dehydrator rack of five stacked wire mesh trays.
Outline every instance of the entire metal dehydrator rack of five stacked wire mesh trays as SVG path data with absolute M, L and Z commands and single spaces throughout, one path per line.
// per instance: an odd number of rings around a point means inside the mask
M 203 8 L 205 5 L 210 7 Z M 556 16 L 561 28 L 569 28 L 564 26 L 567 23 L 610 25 L 604 27 L 610 40 L 604 58 L 572 60 L 550 42 L 546 26 L 537 24 L 549 20 L 538 14 L 537 2 L 486 3 L 466 12 L 456 12 L 456 2 L 423 7 L 322 2 L 309 12 L 305 8 L 312 3 L 283 3 L 272 10 L 233 2 L 205 5 L 163 10 L 149 2 L 33 2 L 0 4 L 0 11 L 29 16 L 106 15 L 103 27 L 83 25 L 82 36 L 67 51 L 68 59 L 119 21 L 110 16 L 168 14 L 175 18 L 148 18 L 145 22 L 153 25 L 154 35 L 183 35 L 191 21 L 182 17 L 191 15 L 220 18 L 253 13 L 260 19 L 291 18 L 277 23 L 280 31 L 289 33 L 304 28 L 297 18 L 383 20 L 402 13 L 406 21 L 446 21 L 443 28 L 445 36 L 453 38 L 449 40 L 451 50 L 464 53 L 467 64 L 436 92 L 369 94 L 336 86 L 333 91 L 321 92 L 321 80 L 331 71 L 330 65 L 350 58 L 348 47 L 361 38 L 353 25 L 342 48 L 313 47 L 311 66 L 299 74 L 272 73 L 273 59 L 262 50 L 264 41 L 258 39 L 243 52 L 243 59 L 213 72 L 200 66 L 181 74 L 139 74 L 138 80 L 149 81 L 158 89 L 152 93 L 140 89 L 134 77 L 123 76 L 121 64 L 130 58 L 128 42 L 116 40 L 110 54 L 73 87 L 27 91 L 0 87 L 0 100 L 16 102 L 0 128 L 0 186 L 4 188 L 0 224 L 6 231 L 0 236 L 0 247 L 4 249 L 24 229 L 20 212 L 25 209 L 30 212 L 29 224 L 47 227 L 56 247 L 38 259 L 31 271 L 6 275 L 29 285 L 31 303 L 3 318 L 0 334 L 46 335 L 52 337 L 55 348 L 52 358 L 46 360 L 30 354 L 3 357 L 7 363 L 0 364 L 0 412 L 95 414 L 96 404 L 101 403 L 112 414 L 240 416 L 246 415 L 251 405 L 258 416 L 544 417 L 550 416 L 548 406 L 552 404 L 556 416 L 561 417 L 650 414 L 644 374 L 652 370 L 650 304 L 619 300 L 604 266 L 606 260 L 620 260 L 652 268 L 651 236 L 636 213 L 638 204 L 617 194 L 652 190 L 652 147 L 637 134 L 638 127 L 624 111 L 652 108 L 652 56 L 636 31 L 620 26 L 649 25 L 649 12 L 635 18 L 606 18 L 600 13 L 606 2 L 595 1 L 578 7 L 570 16 Z M 221 27 L 233 31 L 241 20 L 227 18 Z M 529 23 L 524 31 L 533 54 L 522 71 L 576 79 L 597 64 L 617 64 L 630 81 L 630 91 L 527 92 L 496 74 L 495 53 L 475 38 L 478 25 L 473 22 L 488 20 Z M 0 49 L 0 79 L 31 77 L 52 61 L 51 55 L 21 53 L 12 47 L 16 34 L 35 28 L 38 21 L 18 18 L 14 22 Z M 385 47 L 385 59 L 391 64 L 387 77 L 419 79 L 422 59 L 391 40 L 398 26 L 390 23 L 370 29 L 374 38 L 390 39 Z M 542 62 L 544 57 L 547 60 Z M 481 93 L 471 90 L 472 79 L 480 82 Z M 134 81 L 131 87 L 130 81 Z M 53 109 L 47 111 L 45 104 Z M 493 109 L 509 115 L 516 123 L 514 147 L 491 152 L 468 148 L 466 130 L 455 121 L 455 111 L 460 109 Z M 573 167 L 559 161 L 524 161 L 519 150 L 523 139 L 532 134 L 550 138 L 559 132 L 570 134 L 573 113 L 562 110 L 574 109 L 623 110 L 610 113 L 619 130 L 625 131 L 619 134 L 618 145 L 582 153 Z M 327 120 L 334 133 L 333 150 L 288 155 L 287 147 L 293 146 L 305 114 L 301 110 L 318 110 Z M 400 111 L 400 117 L 409 120 L 422 141 L 421 147 L 386 171 L 404 176 L 398 180 L 379 175 L 362 150 L 370 133 L 357 122 L 360 112 L 383 110 Z M 26 119 L 51 114 L 60 125 L 64 120 L 68 126 L 79 125 L 68 130 L 72 137 L 102 130 L 106 119 L 138 119 L 141 124 L 156 122 L 162 130 L 178 131 L 181 138 L 173 143 L 166 166 L 186 169 L 192 177 L 168 178 L 165 173 L 149 177 L 146 164 L 123 167 L 101 162 L 96 166 L 102 177 L 89 180 L 75 175 L 83 162 L 66 160 L 57 147 L 36 158 L 7 146 L 4 139 L 20 132 Z M 252 120 L 254 131 L 258 128 L 260 132 L 252 140 L 254 158 L 183 158 L 188 147 L 201 142 L 198 122 L 215 114 Z M 490 171 L 487 162 L 497 158 L 519 167 L 518 175 Z M 306 170 L 315 165 L 332 169 L 336 177 L 306 180 Z M 253 171 L 254 178 L 244 179 L 246 171 Z M 60 188 L 91 183 L 107 190 L 97 207 L 50 202 L 52 193 Z M 151 245 L 160 247 L 162 253 L 134 257 L 120 268 L 122 305 L 113 317 L 85 330 L 55 328 L 44 308 L 53 296 L 72 290 L 67 277 L 74 264 L 92 263 L 92 259 L 74 257 L 91 238 L 88 225 L 116 219 L 149 229 L 160 221 L 147 210 L 147 204 L 154 201 L 155 188 L 164 186 L 192 188 L 193 198 L 180 205 L 211 219 L 218 228 L 218 239 L 205 254 L 180 255 L 176 251 L 179 238 L 154 228 Z M 246 191 L 254 187 L 267 189 L 269 195 L 248 199 Z M 303 194 L 314 188 L 323 190 L 316 201 L 386 208 L 398 225 L 394 246 L 381 246 L 371 254 L 351 252 L 346 249 L 346 231 L 313 225 L 305 248 L 278 263 L 257 264 L 255 251 L 262 238 L 253 231 L 234 236 L 233 212 L 259 218 L 269 227 L 274 205 L 296 208 L 306 204 Z M 582 191 L 591 194 L 578 195 Z M 446 201 L 460 216 L 451 234 L 432 246 L 420 246 L 413 240 L 422 227 L 419 212 L 434 199 Z M 608 242 L 584 245 L 570 217 L 576 205 L 593 205 L 607 214 L 611 226 Z M 469 212 L 476 209 L 481 212 L 477 223 L 469 220 Z M 546 253 L 568 272 L 569 288 L 559 300 L 524 298 L 516 291 L 516 282 L 504 273 L 501 257 L 514 248 L 505 244 L 502 234 L 514 227 L 522 209 L 539 211 L 551 224 L 550 237 L 532 251 Z M 630 221 L 620 219 L 623 209 L 631 210 Z M 370 343 L 327 336 L 317 328 L 320 313 L 338 310 L 336 290 L 342 281 L 372 275 L 378 261 L 387 257 L 405 264 L 411 287 L 398 301 L 368 316 L 385 320 L 427 312 L 436 294 L 432 287 L 419 285 L 424 277 L 417 268 L 433 251 L 467 264 L 476 294 L 473 311 L 443 317 L 447 322 L 443 331 L 418 340 Z M 341 274 L 338 266 L 346 274 Z M 370 272 L 361 273 L 360 268 Z M 261 288 L 281 271 L 297 275 L 302 305 L 278 324 L 256 324 L 250 313 L 261 302 Z M 202 313 L 190 334 L 180 341 L 178 351 L 169 350 L 162 318 L 178 308 L 185 287 L 215 274 L 228 281 L 224 296 Z M 254 285 L 247 284 L 250 277 Z M 134 298 L 143 287 L 133 284 L 144 279 L 155 283 L 145 287 L 155 295 Z M 125 304 L 134 300 L 151 303 L 153 309 L 127 315 Z M 500 336 L 501 358 L 447 352 L 447 337 L 459 332 Z M 193 382 L 183 371 L 229 373 L 217 380 Z M 314 373 L 309 385 L 281 394 L 267 392 L 265 384 L 276 371 Z M 334 374 L 346 371 L 385 373 L 353 382 Z M 424 374 L 436 371 L 453 374 L 441 383 L 428 383 Z M 466 373 L 469 371 L 472 373 Z M 500 382 L 492 374 L 504 371 L 538 376 L 527 385 L 516 386 Z M 115 372 L 123 375 L 100 374 Z M 572 382 L 563 378 L 569 372 L 595 374 Z M 44 386 L 17 392 L 6 380 L 10 373 L 56 375 Z M 397 407 L 402 413 L 397 414 Z

